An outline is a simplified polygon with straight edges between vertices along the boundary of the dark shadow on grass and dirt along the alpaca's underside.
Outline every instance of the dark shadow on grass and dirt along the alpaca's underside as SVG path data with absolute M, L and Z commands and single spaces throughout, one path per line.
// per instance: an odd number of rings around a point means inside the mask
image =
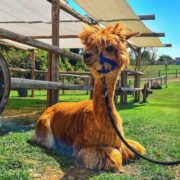
M 116 175 L 116 176 L 126 175 L 126 174 L 122 174 L 122 172 L 120 171 L 100 171 L 100 170 L 87 169 L 82 164 L 80 164 L 77 161 L 77 159 L 75 159 L 72 156 L 73 153 L 72 149 L 62 150 L 59 146 L 57 146 L 55 149 L 47 149 L 42 145 L 39 145 L 31 140 L 28 140 L 28 143 L 32 146 L 40 147 L 41 149 L 43 149 L 44 153 L 46 153 L 48 156 L 53 157 L 57 161 L 57 163 L 59 164 L 60 168 L 63 171 L 62 177 L 59 178 L 63 180 L 67 180 L 67 179 L 84 180 L 93 176 L 99 176 L 99 175 L 101 176 L 101 174 L 104 173 L 113 173 L 112 175 Z M 138 159 L 139 158 L 135 158 L 123 163 L 123 168 L 125 168 L 125 170 L 131 174 L 135 169 L 134 167 L 136 165 L 135 162 Z

